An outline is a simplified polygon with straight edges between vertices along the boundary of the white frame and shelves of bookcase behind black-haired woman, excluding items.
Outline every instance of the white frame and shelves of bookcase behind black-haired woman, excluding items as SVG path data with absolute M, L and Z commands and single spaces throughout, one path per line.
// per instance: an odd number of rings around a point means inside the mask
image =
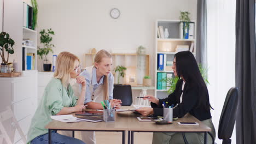
M 194 21 L 191 21 L 194 22 Z M 196 34 L 194 22 L 194 39 L 180 38 L 180 21 L 179 20 L 156 20 L 155 22 L 155 97 L 166 98 L 168 96 L 167 89 L 158 89 L 158 73 L 173 74 L 173 70 L 158 70 L 158 54 L 166 55 L 166 61 L 173 61 L 177 45 L 188 45 L 189 48 L 194 43 L 193 54 L 196 53 Z M 162 26 L 168 29 L 168 38 L 158 38 L 158 27 Z

